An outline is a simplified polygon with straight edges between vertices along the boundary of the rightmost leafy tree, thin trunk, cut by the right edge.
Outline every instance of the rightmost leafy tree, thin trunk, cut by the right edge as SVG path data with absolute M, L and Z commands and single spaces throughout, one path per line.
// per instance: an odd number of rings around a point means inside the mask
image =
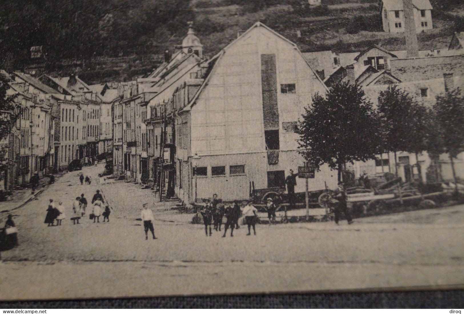
M 433 109 L 443 142 L 443 151 L 450 157 L 454 183 L 457 184 L 454 159 L 464 151 L 464 96 L 459 89 L 448 91 L 436 97 Z

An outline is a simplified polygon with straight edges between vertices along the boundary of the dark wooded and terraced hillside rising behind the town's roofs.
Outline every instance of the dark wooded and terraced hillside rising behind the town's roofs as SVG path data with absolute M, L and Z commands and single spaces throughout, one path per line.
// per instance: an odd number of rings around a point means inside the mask
M 420 49 L 445 47 L 464 30 L 459 0 L 433 0 L 434 29 L 419 34 Z M 187 21 L 212 56 L 256 21 L 294 41 L 302 51 L 360 51 L 371 44 L 404 48 L 401 34 L 381 32 L 377 0 L 43 0 L 0 1 L 0 66 L 17 70 L 42 45 L 47 62 L 85 60 L 90 83 L 142 75 L 157 56 L 180 44 Z M 112 59 L 117 58 L 117 59 Z M 116 61 L 115 61 L 116 60 Z

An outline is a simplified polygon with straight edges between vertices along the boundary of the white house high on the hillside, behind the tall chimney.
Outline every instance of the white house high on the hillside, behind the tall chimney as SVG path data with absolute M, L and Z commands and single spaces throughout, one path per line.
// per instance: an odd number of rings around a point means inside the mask
M 429 0 L 412 0 L 416 32 L 432 29 L 432 5 Z M 404 32 L 403 0 L 381 0 L 380 15 L 385 32 Z

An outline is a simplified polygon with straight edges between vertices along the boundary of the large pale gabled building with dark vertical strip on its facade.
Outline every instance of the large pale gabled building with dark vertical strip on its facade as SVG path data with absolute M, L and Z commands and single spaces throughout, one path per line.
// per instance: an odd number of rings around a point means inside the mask
M 209 63 L 199 91 L 179 112 L 177 191 L 184 201 L 248 199 L 256 189 L 284 186 L 303 166 L 295 133 L 304 107 L 326 86 L 290 40 L 258 22 Z M 176 134 L 179 136 L 179 134 Z M 309 190 L 336 186 L 327 166 Z M 297 179 L 296 192 L 303 192 Z

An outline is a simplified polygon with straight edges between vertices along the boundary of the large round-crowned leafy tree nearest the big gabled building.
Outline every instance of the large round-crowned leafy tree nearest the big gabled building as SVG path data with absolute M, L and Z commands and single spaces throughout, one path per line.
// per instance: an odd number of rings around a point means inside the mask
M 305 160 L 317 170 L 323 164 L 338 170 L 339 181 L 347 162 L 373 159 L 380 150 L 379 117 L 364 91 L 347 82 L 335 84 L 325 96 L 313 97 L 297 133 Z

